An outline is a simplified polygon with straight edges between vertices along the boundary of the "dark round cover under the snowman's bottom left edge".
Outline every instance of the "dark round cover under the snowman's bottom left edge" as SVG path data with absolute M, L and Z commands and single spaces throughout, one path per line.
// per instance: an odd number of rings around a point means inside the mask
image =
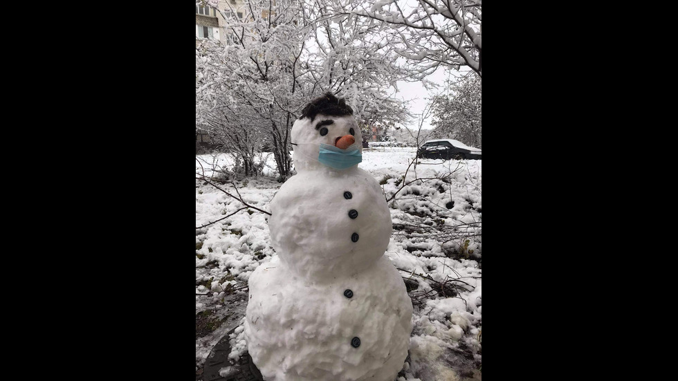
M 235 332 L 235 328 L 228 331 L 221 337 L 217 345 L 212 348 L 210 355 L 205 360 L 203 366 L 203 381 L 263 381 L 262 373 L 252 361 L 250 354 L 245 352 L 240 356 L 237 364 L 231 364 L 228 360 L 228 354 L 231 351 L 228 343 L 230 334 Z M 230 367 L 228 375 L 219 374 L 221 369 Z

